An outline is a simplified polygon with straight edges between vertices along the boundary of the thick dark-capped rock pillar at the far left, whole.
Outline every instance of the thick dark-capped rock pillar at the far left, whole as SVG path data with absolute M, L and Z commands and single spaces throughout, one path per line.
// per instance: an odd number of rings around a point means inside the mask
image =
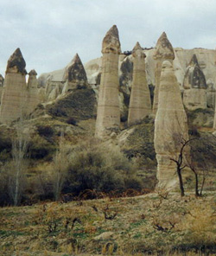
M 3 83 L 0 122 L 10 124 L 20 118 L 26 110 L 25 61 L 19 48 L 10 56 Z

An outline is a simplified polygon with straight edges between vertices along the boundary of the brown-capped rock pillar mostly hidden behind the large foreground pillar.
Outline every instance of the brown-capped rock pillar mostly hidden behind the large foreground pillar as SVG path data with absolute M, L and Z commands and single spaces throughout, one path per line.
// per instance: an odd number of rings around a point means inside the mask
M 157 106 L 158 106 L 158 93 L 160 86 L 160 77 L 162 72 L 162 62 L 170 61 L 173 63 L 175 59 L 174 49 L 172 44 L 168 41 L 168 37 L 165 32 L 162 33 L 158 41 L 156 42 L 156 53 L 154 55 L 156 60 L 156 71 L 155 71 L 155 93 L 154 93 L 154 102 L 153 102 L 153 114 L 156 115 Z

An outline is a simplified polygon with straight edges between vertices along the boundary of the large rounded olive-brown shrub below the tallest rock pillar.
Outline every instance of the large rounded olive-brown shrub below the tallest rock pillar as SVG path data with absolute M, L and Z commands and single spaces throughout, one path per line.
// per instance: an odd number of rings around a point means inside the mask
M 135 176 L 135 165 L 117 145 L 93 139 L 73 150 L 64 193 L 79 195 L 86 189 L 108 193 L 130 188 L 142 189 L 142 184 Z

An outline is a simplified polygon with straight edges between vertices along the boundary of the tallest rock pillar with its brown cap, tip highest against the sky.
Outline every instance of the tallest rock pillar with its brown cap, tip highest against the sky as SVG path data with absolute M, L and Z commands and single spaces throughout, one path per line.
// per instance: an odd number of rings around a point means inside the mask
M 118 57 L 121 52 L 118 29 L 114 25 L 102 43 L 102 74 L 98 94 L 98 110 L 95 136 L 105 138 L 119 129 Z

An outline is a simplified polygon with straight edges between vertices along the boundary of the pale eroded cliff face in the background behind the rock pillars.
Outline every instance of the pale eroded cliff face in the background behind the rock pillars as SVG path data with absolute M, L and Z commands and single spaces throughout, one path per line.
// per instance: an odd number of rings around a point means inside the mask
M 111 42 L 113 43 L 113 42 Z M 169 45 L 169 44 L 168 44 Z M 215 107 L 215 86 L 216 86 L 216 51 L 212 49 L 205 48 L 194 48 L 194 49 L 183 49 L 183 48 L 173 48 L 174 55 L 170 47 L 167 48 L 169 52 L 168 57 L 171 59 L 175 55 L 173 60 L 173 67 L 175 76 L 177 78 L 178 84 L 181 89 L 181 93 L 185 90 L 183 83 L 185 80 L 185 75 L 187 73 L 187 67 L 195 54 L 197 57 L 200 70 L 205 76 L 207 89 L 206 89 L 206 107 L 214 110 Z M 160 48 L 160 52 L 163 52 Z M 151 99 L 153 96 L 153 89 L 156 86 L 156 65 L 158 60 L 156 56 L 161 56 L 162 54 L 156 54 L 156 48 L 143 49 L 143 53 L 146 55 L 145 58 L 145 69 L 146 69 L 146 79 L 147 83 L 151 88 L 150 94 Z M 165 56 L 167 56 L 165 54 Z M 130 92 L 133 80 L 133 60 L 131 52 L 127 54 L 120 54 L 118 59 L 118 80 L 119 80 L 119 106 L 121 121 L 126 121 L 128 118 L 128 109 L 130 104 Z M 170 60 L 169 60 L 170 61 Z M 160 64 L 160 63 L 159 63 Z M 50 74 L 42 74 L 39 77 L 40 86 L 46 86 L 47 84 L 47 95 L 54 89 L 55 86 L 59 86 L 60 93 L 64 86 L 64 74 L 66 68 L 62 70 L 54 71 Z M 88 61 L 84 68 L 86 70 L 86 77 L 90 86 L 96 93 L 98 98 L 98 89 L 101 80 L 102 73 L 102 57 Z M 49 86 L 48 86 L 49 85 Z M 48 92 L 49 91 L 49 92 Z M 56 92 L 56 91 L 55 91 Z M 156 90 L 155 90 L 156 94 Z M 56 95 L 57 97 L 57 95 Z M 45 97 L 46 98 L 46 97 Z M 52 97 L 53 98 L 53 97 Z M 49 98 L 50 99 L 50 98 Z M 48 97 L 45 99 L 48 100 Z

